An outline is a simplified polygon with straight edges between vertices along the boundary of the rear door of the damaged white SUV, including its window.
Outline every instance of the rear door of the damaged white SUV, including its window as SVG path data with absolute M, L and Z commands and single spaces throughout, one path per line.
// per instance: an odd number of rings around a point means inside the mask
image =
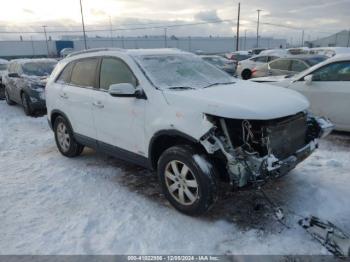
M 67 106 L 68 118 L 75 133 L 96 139 L 92 116 L 93 95 L 97 87 L 99 58 L 84 58 L 72 65 L 69 84 L 64 84 L 59 99 Z

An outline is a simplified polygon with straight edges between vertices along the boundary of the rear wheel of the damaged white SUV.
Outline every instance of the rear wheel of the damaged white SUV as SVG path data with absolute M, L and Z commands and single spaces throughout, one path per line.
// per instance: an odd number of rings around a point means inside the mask
M 62 155 L 72 158 L 83 152 L 84 146 L 75 140 L 73 130 L 65 118 L 57 117 L 54 123 L 54 133 L 57 148 Z

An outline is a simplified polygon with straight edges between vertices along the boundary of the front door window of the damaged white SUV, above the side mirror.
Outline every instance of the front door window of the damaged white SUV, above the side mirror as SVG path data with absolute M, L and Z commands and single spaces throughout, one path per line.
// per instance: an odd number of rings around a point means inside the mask
M 137 86 L 137 80 L 129 67 L 120 59 L 103 58 L 101 64 L 100 88 L 108 90 L 112 84 L 129 83 Z

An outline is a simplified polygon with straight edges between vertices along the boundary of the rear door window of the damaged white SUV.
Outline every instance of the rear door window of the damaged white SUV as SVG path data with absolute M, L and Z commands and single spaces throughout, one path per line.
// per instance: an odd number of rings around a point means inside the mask
M 82 87 L 96 87 L 97 64 L 97 58 L 78 60 L 73 67 L 70 83 Z

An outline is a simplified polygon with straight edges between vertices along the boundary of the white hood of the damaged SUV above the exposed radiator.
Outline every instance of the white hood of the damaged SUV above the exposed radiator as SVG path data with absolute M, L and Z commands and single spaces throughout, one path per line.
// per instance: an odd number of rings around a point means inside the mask
M 231 85 L 163 93 L 170 105 L 234 119 L 276 119 L 309 107 L 307 99 L 296 91 L 242 80 Z

